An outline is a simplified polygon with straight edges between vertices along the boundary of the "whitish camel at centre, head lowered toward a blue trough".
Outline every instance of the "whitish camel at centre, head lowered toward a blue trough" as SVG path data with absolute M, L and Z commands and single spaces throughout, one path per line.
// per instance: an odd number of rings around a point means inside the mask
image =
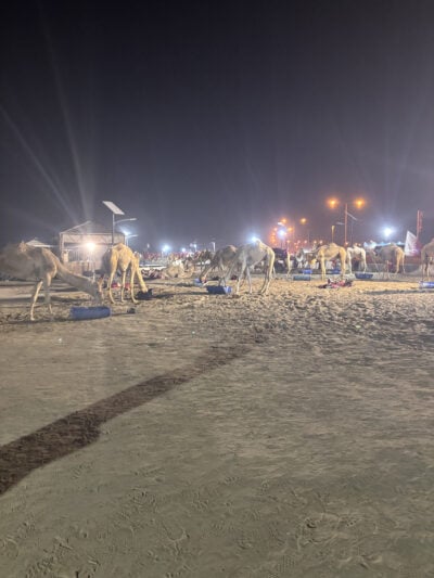
M 267 295 L 268 287 L 270 285 L 272 269 L 275 267 L 276 254 L 271 247 L 263 243 L 261 241 L 255 241 L 254 243 L 247 243 L 246 245 L 241 245 L 235 252 L 233 259 L 222 279 L 225 285 L 227 280 L 231 279 L 233 272 L 239 267 L 240 273 L 237 281 L 235 295 L 239 294 L 240 283 L 246 278 L 248 281 L 248 292 L 252 293 L 252 279 L 251 279 L 251 268 L 255 267 L 261 261 L 265 261 L 265 279 L 264 284 L 260 287 L 259 293 Z

